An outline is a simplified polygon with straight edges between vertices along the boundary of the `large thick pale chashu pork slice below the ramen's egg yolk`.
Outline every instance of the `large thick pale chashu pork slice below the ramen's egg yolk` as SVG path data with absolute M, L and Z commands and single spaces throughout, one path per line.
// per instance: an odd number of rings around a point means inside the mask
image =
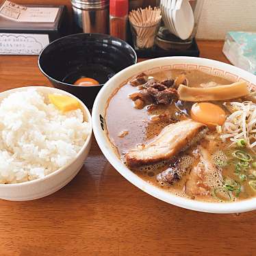
M 201 140 L 206 132 L 207 127 L 194 120 L 182 120 L 168 125 L 143 149 L 135 149 L 126 153 L 127 166 L 133 168 L 169 160 Z

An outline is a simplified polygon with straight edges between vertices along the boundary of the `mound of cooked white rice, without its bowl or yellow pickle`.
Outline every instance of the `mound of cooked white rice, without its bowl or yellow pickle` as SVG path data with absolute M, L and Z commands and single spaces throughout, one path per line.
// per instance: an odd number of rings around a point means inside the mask
M 47 101 L 30 88 L 1 102 L 0 183 L 44 177 L 71 162 L 83 146 L 90 127 L 81 110 L 62 113 Z

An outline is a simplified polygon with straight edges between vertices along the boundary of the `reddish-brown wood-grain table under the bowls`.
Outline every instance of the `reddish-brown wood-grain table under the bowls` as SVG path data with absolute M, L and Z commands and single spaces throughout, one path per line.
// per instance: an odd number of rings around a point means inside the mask
M 222 42 L 201 57 L 228 62 Z M 1 91 L 47 85 L 35 56 L 0 56 Z M 0 200 L 0 255 L 256 255 L 255 212 L 204 214 L 142 192 L 112 168 L 95 140 L 62 190 L 28 202 Z

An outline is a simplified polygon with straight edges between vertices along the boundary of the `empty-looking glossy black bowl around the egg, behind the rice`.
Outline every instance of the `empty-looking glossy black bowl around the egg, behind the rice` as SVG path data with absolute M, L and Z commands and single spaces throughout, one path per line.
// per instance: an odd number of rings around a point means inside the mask
M 75 34 L 45 47 L 38 66 L 55 88 L 71 92 L 91 108 L 105 82 L 136 62 L 136 52 L 123 40 L 105 34 Z M 100 85 L 74 86 L 81 77 L 96 79 Z

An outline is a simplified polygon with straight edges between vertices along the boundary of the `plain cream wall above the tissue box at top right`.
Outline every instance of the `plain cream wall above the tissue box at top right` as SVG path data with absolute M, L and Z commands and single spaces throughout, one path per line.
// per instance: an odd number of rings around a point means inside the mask
M 227 31 L 256 32 L 256 0 L 205 0 L 196 38 L 224 39 Z

